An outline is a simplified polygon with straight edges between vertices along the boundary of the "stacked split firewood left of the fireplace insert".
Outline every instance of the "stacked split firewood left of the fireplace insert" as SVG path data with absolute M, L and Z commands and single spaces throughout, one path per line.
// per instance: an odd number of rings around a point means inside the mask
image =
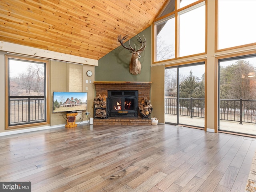
M 107 96 L 99 94 L 94 98 L 94 117 L 106 118 L 107 116 Z

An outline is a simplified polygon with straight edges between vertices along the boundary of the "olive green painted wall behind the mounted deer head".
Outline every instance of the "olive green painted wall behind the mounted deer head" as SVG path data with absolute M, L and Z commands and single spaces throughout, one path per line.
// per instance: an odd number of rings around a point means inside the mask
M 126 34 L 122 34 L 124 36 Z M 132 82 L 150 82 L 150 65 L 151 65 L 151 27 L 139 33 L 143 40 L 146 38 L 146 49 L 140 54 L 141 72 L 138 75 L 132 75 L 129 72 L 129 63 L 131 53 L 121 45 L 115 50 L 108 53 L 98 61 L 95 67 L 95 81 L 132 81 Z M 131 38 L 128 36 L 128 38 Z M 116 37 L 116 43 L 120 44 Z M 136 50 L 140 47 L 136 37 L 130 39 L 130 44 Z M 129 47 L 128 42 L 125 43 Z

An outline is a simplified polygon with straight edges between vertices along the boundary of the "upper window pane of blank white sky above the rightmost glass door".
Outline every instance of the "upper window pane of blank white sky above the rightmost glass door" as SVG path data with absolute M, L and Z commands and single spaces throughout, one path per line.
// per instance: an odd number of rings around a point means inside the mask
M 256 1 L 218 1 L 218 50 L 256 43 Z

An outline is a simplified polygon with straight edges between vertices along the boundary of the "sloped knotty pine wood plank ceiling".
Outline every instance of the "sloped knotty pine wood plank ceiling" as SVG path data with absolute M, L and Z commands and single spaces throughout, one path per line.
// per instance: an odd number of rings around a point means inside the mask
M 0 40 L 100 59 L 148 28 L 168 0 L 1 0 Z

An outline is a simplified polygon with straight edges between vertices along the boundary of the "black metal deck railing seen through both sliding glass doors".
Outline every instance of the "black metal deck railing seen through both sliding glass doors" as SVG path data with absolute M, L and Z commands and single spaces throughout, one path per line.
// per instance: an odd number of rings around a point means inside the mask
M 204 118 L 204 106 L 204 99 L 180 98 L 178 112 L 190 118 Z M 256 100 L 220 99 L 219 106 L 220 120 L 256 123 Z M 177 98 L 165 98 L 165 114 L 177 115 Z

